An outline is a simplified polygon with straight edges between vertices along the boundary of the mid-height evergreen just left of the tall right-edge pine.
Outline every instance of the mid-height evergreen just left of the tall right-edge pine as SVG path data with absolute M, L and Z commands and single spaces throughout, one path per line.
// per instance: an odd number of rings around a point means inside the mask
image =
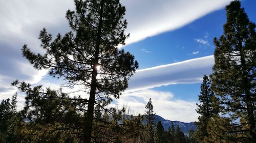
M 208 137 L 207 124 L 208 121 L 218 114 L 218 108 L 213 107 L 213 100 L 215 97 L 214 92 L 210 90 L 211 81 L 208 79 L 207 75 L 203 76 L 203 83 L 201 84 L 201 94 L 199 95 L 199 101 L 201 104 L 197 104 L 198 108 L 196 109 L 200 117 L 198 117 L 198 122 L 195 122 L 197 125 L 197 132 L 195 137 L 198 142 L 205 142 L 204 139 Z

